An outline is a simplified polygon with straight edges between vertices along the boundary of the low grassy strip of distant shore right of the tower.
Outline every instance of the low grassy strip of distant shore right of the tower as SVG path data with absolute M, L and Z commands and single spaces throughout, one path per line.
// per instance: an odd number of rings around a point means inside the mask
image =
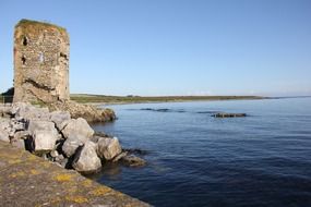
M 137 102 L 174 102 L 174 101 L 195 101 L 195 100 L 246 100 L 246 99 L 263 99 L 260 96 L 104 96 L 74 94 L 71 100 L 86 104 L 137 104 Z

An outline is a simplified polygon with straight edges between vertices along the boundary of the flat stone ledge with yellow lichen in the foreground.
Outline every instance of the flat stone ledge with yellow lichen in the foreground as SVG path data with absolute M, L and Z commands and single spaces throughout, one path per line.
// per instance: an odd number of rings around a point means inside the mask
M 149 206 L 0 142 L 0 206 Z

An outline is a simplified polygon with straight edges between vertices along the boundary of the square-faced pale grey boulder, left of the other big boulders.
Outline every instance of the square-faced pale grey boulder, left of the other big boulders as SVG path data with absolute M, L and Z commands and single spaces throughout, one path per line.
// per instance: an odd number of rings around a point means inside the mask
M 58 134 L 49 130 L 35 130 L 33 133 L 33 146 L 35 151 L 52 151 L 56 148 Z

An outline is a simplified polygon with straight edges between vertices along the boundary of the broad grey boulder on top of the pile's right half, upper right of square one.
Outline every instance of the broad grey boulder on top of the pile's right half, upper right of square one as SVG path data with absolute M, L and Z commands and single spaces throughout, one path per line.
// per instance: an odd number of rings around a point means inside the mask
M 85 119 L 77 118 L 71 119 L 62 123 L 62 134 L 64 138 L 69 138 L 71 134 L 79 134 L 81 136 L 91 138 L 94 134 L 94 130 L 88 125 Z

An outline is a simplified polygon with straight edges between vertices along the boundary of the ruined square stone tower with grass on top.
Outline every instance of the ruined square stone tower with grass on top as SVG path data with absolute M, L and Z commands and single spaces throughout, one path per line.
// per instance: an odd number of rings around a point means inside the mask
M 14 33 L 14 102 L 69 100 L 69 35 L 64 28 L 22 20 Z

